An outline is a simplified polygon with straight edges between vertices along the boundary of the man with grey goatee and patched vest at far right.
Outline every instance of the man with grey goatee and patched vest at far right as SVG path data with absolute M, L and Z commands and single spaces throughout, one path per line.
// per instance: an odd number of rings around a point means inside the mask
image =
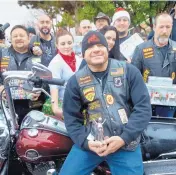
M 171 77 L 173 83 L 176 83 L 176 42 L 169 39 L 172 25 L 173 19 L 169 14 L 157 15 L 154 38 L 140 44 L 134 51 L 132 64 L 140 70 L 145 82 L 148 76 L 158 76 Z M 161 109 L 158 112 L 156 115 L 166 116 Z

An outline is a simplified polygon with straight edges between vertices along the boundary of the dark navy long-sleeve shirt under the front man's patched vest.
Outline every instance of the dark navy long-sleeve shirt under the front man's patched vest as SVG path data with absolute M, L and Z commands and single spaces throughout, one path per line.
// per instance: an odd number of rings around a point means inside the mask
M 93 75 L 95 74 L 93 73 Z M 102 76 L 104 76 L 104 73 Z M 105 84 L 106 79 L 103 80 L 103 84 Z M 127 64 L 127 81 L 133 109 L 129 116 L 128 124 L 120 137 L 128 144 L 143 132 L 152 113 L 149 94 L 141 73 L 130 64 Z M 65 125 L 73 142 L 83 149 L 88 149 L 87 137 L 90 133 L 90 128 L 84 125 L 83 109 L 84 104 L 81 100 L 80 88 L 76 76 L 73 75 L 67 83 L 64 95 L 63 114 Z

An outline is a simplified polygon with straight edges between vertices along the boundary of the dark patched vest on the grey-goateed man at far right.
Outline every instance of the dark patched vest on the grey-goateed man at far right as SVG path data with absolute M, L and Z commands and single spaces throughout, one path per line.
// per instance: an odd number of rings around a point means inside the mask
M 162 61 L 162 53 L 154 44 L 153 39 L 139 46 L 142 52 L 143 79 L 148 81 L 148 76 L 171 77 L 176 84 L 176 42 L 169 39 L 169 46 Z

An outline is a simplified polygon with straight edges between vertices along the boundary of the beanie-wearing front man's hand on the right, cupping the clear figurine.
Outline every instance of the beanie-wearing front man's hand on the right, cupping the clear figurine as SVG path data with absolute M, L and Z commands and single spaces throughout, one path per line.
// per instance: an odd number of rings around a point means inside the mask
M 122 146 L 125 145 L 124 140 L 119 136 L 112 136 L 106 140 L 104 140 L 105 144 L 107 145 L 107 149 L 104 150 L 99 156 L 107 156 L 111 153 L 116 152 L 119 150 Z

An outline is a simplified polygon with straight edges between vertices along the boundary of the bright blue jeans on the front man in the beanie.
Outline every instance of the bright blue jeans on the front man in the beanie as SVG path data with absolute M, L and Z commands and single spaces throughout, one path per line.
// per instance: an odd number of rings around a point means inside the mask
M 135 151 L 119 150 L 106 157 L 99 157 L 91 151 L 84 151 L 73 145 L 59 175 L 90 175 L 103 161 L 110 167 L 112 175 L 143 175 L 140 146 Z

